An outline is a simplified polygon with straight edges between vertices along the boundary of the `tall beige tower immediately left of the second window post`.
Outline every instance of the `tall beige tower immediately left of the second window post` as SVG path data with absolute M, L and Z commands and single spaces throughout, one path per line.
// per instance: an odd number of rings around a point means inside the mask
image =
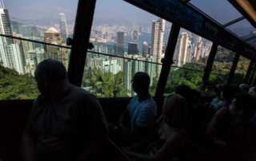
M 158 21 L 152 22 L 152 33 L 151 33 L 151 49 L 150 55 L 157 58 L 157 62 L 161 63 L 162 58 L 162 41 L 163 34 L 165 32 L 166 21 L 159 18 Z M 157 74 L 161 71 L 161 66 L 157 66 Z

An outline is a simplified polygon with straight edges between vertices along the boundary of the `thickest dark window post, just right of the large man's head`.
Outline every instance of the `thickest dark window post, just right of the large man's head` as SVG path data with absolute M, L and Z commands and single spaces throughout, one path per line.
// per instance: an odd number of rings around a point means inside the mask
M 90 29 L 94 19 L 96 0 L 79 0 L 74 24 L 68 78 L 71 84 L 81 86 L 90 39 Z

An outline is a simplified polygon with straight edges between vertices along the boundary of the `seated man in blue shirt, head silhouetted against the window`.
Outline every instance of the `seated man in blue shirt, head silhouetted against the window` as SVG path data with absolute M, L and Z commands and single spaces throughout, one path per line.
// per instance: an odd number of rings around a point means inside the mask
M 122 113 L 118 122 L 119 135 L 123 135 L 122 145 L 133 143 L 150 132 L 157 116 L 157 105 L 149 93 L 150 77 L 147 73 L 138 72 L 132 79 L 132 87 L 137 96 Z M 124 125 L 126 116 L 130 116 L 130 127 Z M 127 145 L 127 144 L 126 144 Z

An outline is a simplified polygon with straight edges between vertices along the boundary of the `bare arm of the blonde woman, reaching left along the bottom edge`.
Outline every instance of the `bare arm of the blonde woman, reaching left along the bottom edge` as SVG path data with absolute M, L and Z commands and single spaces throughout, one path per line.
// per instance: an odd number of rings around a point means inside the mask
M 182 147 L 185 144 L 185 140 L 183 139 L 182 134 L 178 132 L 174 132 L 173 135 L 166 140 L 166 142 L 162 145 L 162 147 L 155 153 L 154 155 L 142 155 L 133 151 L 126 151 L 126 154 L 134 159 L 138 160 L 163 160 L 168 157 L 170 151 L 173 151 L 177 147 Z

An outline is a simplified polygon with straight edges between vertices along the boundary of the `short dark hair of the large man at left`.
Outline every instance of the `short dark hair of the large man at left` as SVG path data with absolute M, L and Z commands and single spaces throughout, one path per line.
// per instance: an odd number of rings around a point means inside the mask
M 34 71 L 35 79 L 45 76 L 49 81 L 58 82 L 67 78 L 66 68 L 60 61 L 46 59 L 38 64 Z

